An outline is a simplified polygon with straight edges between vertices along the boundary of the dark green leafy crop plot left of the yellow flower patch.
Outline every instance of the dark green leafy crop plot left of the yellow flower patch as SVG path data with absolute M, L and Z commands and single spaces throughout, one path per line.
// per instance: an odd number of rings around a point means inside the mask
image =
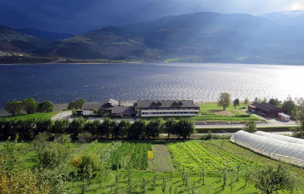
M 130 163 L 133 169 L 146 170 L 148 167 L 148 150 L 152 150 L 150 143 L 125 141 L 112 154 L 112 168 L 125 168 Z

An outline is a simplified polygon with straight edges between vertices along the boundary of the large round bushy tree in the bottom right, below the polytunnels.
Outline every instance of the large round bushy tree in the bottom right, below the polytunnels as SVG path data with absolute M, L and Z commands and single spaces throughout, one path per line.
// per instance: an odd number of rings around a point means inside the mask
M 282 190 L 293 192 L 299 188 L 299 178 L 289 170 L 288 165 L 279 162 L 278 165 L 263 165 L 251 176 L 250 182 L 262 193 L 271 194 Z

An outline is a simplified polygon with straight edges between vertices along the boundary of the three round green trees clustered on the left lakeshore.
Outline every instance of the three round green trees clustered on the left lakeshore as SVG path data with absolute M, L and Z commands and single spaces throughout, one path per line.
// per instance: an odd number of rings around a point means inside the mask
M 23 111 L 26 111 L 27 114 L 33 114 L 36 112 L 52 112 L 54 111 L 54 104 L 49 100 L 39 103 L 33 98 L 27 98 L 22 101 L 12 100 L 7 102 L 4 110 L 12 115 L 22 114 Z

